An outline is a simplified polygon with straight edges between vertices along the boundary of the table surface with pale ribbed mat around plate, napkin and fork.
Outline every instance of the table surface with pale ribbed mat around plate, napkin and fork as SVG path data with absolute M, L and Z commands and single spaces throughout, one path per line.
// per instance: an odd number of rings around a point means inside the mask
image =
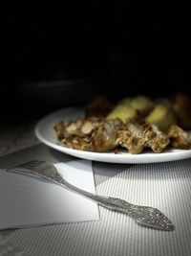
M 35 122 L 0 129 L 0 168 L 64 154 L 40 144 Z M 159 208 L 176 226 L 163 232 L 138 226 L 99 207 L 100 221 L 0 232 L 0 255 L 191 255 L 191 159 L 143 165 L 93 162 L 97 194 Z

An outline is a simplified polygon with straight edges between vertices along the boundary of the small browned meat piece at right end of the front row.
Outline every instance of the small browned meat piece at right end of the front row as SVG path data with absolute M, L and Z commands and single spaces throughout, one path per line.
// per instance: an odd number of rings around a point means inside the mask
M 170 146 L 173 148 L 180 150 L 191 149 L 191 136 L 177 125 L 170 126 L 168 137 L 170 138 Z

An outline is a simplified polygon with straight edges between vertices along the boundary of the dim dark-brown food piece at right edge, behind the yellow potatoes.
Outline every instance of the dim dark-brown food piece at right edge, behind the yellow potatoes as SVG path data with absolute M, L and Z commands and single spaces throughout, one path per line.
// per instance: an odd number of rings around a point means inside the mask
M 178 93 L 172 98 L 171 103 L 180 128 L 191 129 L 191 97 Z

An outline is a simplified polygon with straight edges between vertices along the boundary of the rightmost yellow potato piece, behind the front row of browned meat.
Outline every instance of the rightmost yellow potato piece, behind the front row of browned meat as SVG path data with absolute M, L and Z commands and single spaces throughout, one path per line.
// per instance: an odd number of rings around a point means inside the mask
M 170 104 L 158 104 L 145 117 L 145 121 L 158 126 L 159 129 L 166 131 L 170 125 L 177 124 L 176 115 Z

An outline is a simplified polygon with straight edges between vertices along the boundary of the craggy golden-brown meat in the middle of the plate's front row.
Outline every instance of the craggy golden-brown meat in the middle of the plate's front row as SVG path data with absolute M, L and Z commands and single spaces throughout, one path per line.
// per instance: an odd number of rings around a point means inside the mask
M 168 146 L 169 139 L 154 125 L 128 122 L 118 131 L 117 142 L 130 153 L 140 153 L 144 148 L 161 152 Z

